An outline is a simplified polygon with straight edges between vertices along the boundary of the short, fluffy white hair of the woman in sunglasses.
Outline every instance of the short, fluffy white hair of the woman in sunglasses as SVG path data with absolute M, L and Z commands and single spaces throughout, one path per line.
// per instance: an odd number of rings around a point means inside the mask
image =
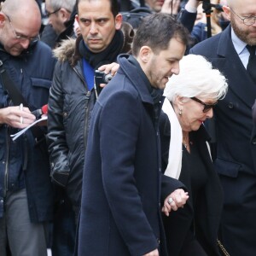
M 179 61 L 180 72 L 172 75 L 166 84 L 164 96 L 174 102 L 176 96 L 224 98 L 228 90 L 227 79 L 212 63 L 201 55 L 185 55 Z

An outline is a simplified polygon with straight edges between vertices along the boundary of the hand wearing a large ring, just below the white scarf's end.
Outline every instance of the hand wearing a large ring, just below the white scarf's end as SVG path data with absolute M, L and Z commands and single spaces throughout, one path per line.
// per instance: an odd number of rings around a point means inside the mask
M 162 212 L 165 212 L 166 216 L 169 216 L 169 212 L 172 210 L 177 211 L 177 208 L 183 207 L 188 199 L 188 192 L 185 192 L 183 189 L 176 189 L 166 197 Z

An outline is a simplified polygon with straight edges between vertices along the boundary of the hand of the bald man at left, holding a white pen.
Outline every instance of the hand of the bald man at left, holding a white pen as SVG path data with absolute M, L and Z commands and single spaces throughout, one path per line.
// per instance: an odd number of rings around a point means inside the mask
M 0 109 L 0 124 L 6 124 L 14 128 L 23 129 L 32 124 L 36 117 L 28 108 L 8 107 Z

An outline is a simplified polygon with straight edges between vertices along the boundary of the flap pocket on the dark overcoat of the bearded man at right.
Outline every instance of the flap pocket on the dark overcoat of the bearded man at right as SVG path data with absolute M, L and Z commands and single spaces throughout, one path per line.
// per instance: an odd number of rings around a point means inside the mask
M 217 158 L 214 162 L 215 170 L 218 174 L 227 177 L 237 177 L 239 170 L 241 170 L 241 165 L 229 160 L 222 160 Z

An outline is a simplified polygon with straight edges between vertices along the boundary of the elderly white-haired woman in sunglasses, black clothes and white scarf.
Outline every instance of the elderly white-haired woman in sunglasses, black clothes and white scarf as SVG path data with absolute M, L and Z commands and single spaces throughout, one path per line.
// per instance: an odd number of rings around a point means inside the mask
M 161 120 L 161 143 L 165 175 L 183 182 L 188 204 L 164 217 L 169 254 L 219 255 L 217 237 L 223 195 L 214 171 L 204 126 L 214 106 L 225 96 L 224 75 L 201 55 L 186 55 L 180 73 L 166 84 Z M 171 124 L 171 125 L 170 125 Z M 175 199 L 173 199 L 175 200 Z M 170 204 L 172 198 L 165 201 Z

